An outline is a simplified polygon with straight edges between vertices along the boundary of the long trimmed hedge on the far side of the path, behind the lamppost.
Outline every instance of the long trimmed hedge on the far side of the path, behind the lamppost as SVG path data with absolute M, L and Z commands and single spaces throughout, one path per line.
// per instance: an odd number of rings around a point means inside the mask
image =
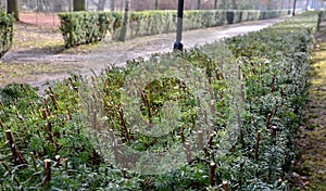
M 61 13 L 61 31 L 65 47 L 100 41 L 109 31 L 113 40 L 121 37 L 123 12 Z M 247 21 L 266 20 L 286 15 L 287 11 L 209 10 L 185 11 L 184 29 L 197 29 Z M 173 33 L 176 30 L 176 11 L 131 12 L 126 38 Z

